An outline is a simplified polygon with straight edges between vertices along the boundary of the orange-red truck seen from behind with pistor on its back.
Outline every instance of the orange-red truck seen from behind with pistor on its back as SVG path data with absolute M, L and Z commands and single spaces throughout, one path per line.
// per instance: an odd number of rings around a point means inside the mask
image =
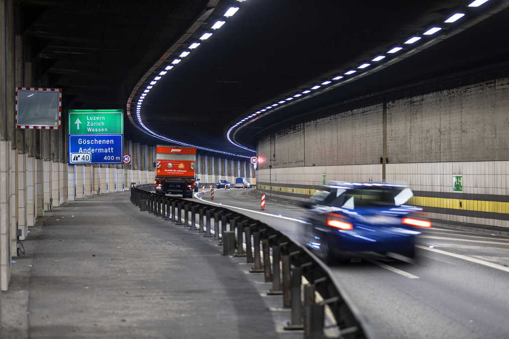
M 195 147 L 156 145 L 156 192 L 192 198 L 193 191 L 198 191 L 195 162 Z

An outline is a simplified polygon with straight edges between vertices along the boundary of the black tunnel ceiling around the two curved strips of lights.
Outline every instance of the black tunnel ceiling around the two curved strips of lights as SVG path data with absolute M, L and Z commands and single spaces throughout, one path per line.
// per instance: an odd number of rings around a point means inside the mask
M 165 52 L 173 51 L 164 56 L 168 60 L 178 57 L 225 9 L 238 6 L 237 14 L 217 31 L 208 29 L 214 35 L 158 81 L 141 116 L 145 126 L 168 138 L 251 156 L 226 138 L 239 119 L 371 60 L 470 2 L 25 0 L 19 1 L 17 29 L 27 37 L 25 54 L 36 61 L 38 85 L 62 88 L 64 108 L 126 109 L 139 85 L 133 110 L 151 80 L 140 79 Z M 507 7 L 497 0 L 483 6 L 469 11 Z M 210 16 L 189 40 L 181 39 L 208 9 Z M 241 128 L 235 138 L 254 148 L 256 133 L 327 105 L 414 84 L 441 88 L 451 78 L 468 82 L 479 74 L 506 74 L 509 35 L 499 33 L 509 32 L 509 10 L 483 19 L 450 37 L 443 30 L 447 39 L 440 43 L 279 109 Z M 166 65 L 153 68 L 153 76 Z M 162 143 L 127 118 L 124 125 L 134 141 Z

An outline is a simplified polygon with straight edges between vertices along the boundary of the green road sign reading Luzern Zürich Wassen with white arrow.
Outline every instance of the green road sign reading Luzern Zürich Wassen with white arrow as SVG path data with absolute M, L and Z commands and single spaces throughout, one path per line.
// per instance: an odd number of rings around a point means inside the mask
M 122 109 L 70 109 L 69 134 L 124 134 Z

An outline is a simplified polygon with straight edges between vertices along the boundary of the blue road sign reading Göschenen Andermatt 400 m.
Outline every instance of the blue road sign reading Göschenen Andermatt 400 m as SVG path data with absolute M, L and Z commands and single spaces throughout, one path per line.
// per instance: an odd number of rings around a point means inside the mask
M 69 164 L 122 164 L 123 139 L 122 134 L 70 134 Z

